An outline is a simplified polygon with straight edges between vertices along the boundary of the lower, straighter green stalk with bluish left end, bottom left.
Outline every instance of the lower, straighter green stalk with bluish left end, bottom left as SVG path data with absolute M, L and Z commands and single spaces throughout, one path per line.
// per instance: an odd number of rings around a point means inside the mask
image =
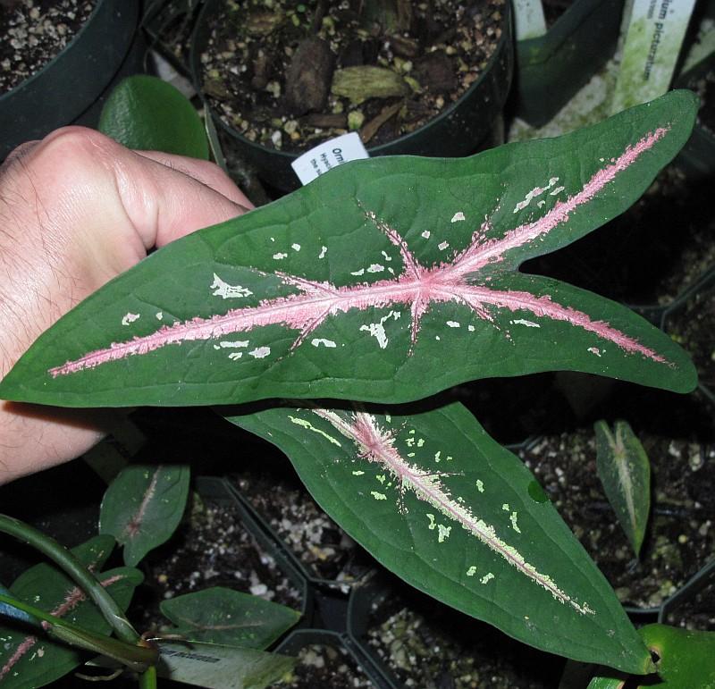
M 0 602 L 7 603 L 13 608 L 20 609 L 45 622 L 46 626 L 43 626 L 43 628 L 51 638 L 68 643 L 83 651 L 101 653 L 107 658 L 118 660 L 136 672 L 146 674 L 147 668 L 155 665 L 159 658 L 159 653 L 154 648 L 136 643 L 126 643 L 109 636 L 88 632 L 80 626 L 67 622 L 67 620 L 55 618 L 54 615 L 50 615 L 46 610 L 36 608 L 34 605 L 20 601 L 12 596 L 4 595 L 4 593 L 0 593 Z

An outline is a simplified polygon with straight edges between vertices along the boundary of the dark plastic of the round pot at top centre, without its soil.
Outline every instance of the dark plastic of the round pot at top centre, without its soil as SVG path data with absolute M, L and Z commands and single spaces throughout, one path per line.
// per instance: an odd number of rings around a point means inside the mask
M 300 153 L 279 151 L 249 141 L 213 112 L 203 93 L 201 54 L 210 38 L 209 19 L 224 2 L 225 0 L 206 0 L 198 15 L 190 51 L 194 86 L 209 112 L 212 112 L 214 120 L 231 136 L 240 155 L 256 168 L 259 177 L 281 191 L 297 189 L 300 186 L 299 180 L 290 164 Z M 499 120 L 511 84 L 514 57 L 509 2 L 504 7 L 501 39 L 482 76 L 458 101 L 445 108 L 431 122 L 400 139 L 368 147 L 369 155 L 458 157 L 478 150 L 480 143 L 492 133 L 494 123 Z

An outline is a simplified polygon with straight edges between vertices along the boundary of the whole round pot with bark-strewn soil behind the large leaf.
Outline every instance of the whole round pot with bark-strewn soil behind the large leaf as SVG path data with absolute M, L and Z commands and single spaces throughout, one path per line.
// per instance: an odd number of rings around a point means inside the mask
M 512 49 L 501 0 L 433 12 L 397 0 L 250 11 L 212 0 L 190 60 L 240 155 L 287 190 L 298 186 L 290 163 L 300 152 L 349 130 L 369 155 L 473 153 L 500 117 Z

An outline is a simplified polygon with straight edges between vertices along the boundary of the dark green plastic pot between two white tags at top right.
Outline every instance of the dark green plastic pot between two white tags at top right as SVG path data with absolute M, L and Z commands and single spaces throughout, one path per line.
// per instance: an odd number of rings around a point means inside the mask
M 624 0 L 575 0 L 544 36 L 517 41 L 515 109 L 541 127 L 614 54 Z

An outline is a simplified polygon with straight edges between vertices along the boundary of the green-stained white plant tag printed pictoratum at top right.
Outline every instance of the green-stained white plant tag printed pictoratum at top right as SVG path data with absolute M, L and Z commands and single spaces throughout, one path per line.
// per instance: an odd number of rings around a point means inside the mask
M 634 0 L 611 111 L 662 96 L 670 86 L 695 0 Z

